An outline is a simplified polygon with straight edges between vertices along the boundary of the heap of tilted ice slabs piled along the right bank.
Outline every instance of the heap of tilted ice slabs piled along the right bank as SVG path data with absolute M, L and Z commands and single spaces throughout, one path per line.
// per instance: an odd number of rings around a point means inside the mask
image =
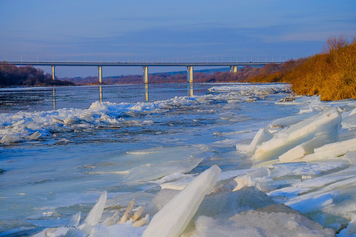
M 237 144 L 237 150 L 251 155 L 256 149 L 252 156 L 254 167 L 269 167 L 271 174 L 235 181 L 255 185 L 274 201 L 307 214 L 324 227 L 339 231 L 354 225 L 356 207 L 350 204 L 356 194 L 356 102 L 353 99 L 323 102 L 313 96 L 278 103 L 304 103 L 309 109 L 274 120 L 263 128 L 272 131 L 269 139 L 261 136 L 261 129 L 250 145 Z M 354 227 L 346 230 L 339 236 L 356 234 Z

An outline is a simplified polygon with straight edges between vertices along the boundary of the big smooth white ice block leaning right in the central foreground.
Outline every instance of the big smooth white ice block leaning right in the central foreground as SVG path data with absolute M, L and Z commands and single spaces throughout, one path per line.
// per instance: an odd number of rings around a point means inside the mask
M 198 210 L 205 194 L 214 187 L 221 169 L 214 165 L 201 173 L 153 216 L 142 237 L 178 237 Z

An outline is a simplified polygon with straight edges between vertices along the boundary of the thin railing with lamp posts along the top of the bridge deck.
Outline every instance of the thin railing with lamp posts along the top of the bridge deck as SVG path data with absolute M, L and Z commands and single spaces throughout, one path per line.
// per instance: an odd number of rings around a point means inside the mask
M 53 63 L 283 63 L 295 60 L 292 56 L 27 56 L 4 55 L 1 61 L 9 62 L 53 62 Z

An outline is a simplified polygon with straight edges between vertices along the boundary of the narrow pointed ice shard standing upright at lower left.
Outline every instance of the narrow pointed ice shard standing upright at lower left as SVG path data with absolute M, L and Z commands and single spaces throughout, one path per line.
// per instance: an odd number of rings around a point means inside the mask
M 92 226 L 99 223 L 101 215 L 103 214 L 103 211 L 104 211 L 104 206 L 105 206 L 107 197 L 108 197 L 108 193 L 106 191 L 104 191 L 100 195 L 100 198 L 98 199 L 96 204 L 89 211 L 87 217 L 85 218 L 84 223 L 78 227 L 79 230 L 85 230 L 85 229 L 88 230 Z

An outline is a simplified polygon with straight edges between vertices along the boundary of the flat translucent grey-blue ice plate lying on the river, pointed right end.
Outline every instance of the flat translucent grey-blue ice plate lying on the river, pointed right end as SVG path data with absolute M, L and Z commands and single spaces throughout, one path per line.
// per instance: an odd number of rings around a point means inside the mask
M 139 183 L 161 178 L 173 173 L 187 173 L 195 168 L 203 158 L 190 158 L 187 160 L 166 161 L 156 164 L 147 164 L 130 169 L 122 183 Z

